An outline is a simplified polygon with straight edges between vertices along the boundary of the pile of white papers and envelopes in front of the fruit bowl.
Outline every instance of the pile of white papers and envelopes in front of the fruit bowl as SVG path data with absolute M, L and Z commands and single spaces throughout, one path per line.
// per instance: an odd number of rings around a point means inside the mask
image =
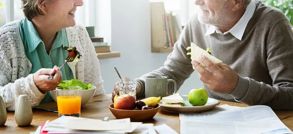
M 51 122 L 42 123 L 35 134 L 155 134 L 153 124 L 130 122 L 129 118 L 98 120 L 71 116 L 61 116 Z M 146 132 L 146 133 L 143 133 Z

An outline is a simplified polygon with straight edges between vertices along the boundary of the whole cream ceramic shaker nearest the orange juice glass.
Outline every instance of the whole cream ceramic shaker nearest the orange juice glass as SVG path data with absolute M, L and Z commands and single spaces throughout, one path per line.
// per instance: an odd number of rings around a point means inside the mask
M 28 126 L 33 120 L 33 111 L 27 95 L 20 95 L 15 108 L 14 118 L 19 126 Z

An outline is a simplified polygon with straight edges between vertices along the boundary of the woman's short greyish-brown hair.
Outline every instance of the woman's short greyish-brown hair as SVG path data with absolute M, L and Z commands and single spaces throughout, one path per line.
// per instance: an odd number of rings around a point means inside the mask
M 32 21 L 34 17 L 39 15 L 45 15 L 42 10 L 38 7 L 39 0 L 21 0 L 22 6 L 21 9 L 24 13 L 24 16 Z M 47 0 L 44 0 L 41 5 L 43 5 Z

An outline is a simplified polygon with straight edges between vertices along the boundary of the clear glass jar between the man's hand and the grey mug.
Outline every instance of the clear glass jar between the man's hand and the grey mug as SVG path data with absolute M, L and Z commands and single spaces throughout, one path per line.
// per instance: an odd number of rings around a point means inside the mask
M 129 94 L 136 100 L 136 80 L 133 77 L 119 79 L 119 95 Z

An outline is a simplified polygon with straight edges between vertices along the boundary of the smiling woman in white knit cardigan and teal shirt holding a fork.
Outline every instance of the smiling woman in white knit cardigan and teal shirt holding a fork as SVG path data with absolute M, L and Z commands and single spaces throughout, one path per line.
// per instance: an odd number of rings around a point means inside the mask
M 7 110 L 14 111 L 23 94 L 32 107 L 51 102 L 48 91 L 73 78 L 95 85 L 95 96 L 105 94 L 92 42 L 74 20 L 82 5 L 83 0 L 22 0 L 25 18 L 0 28 L 0 96 Z M 58 68 L 68 56 L 65 46 L 75 46 L 82 57 Z

